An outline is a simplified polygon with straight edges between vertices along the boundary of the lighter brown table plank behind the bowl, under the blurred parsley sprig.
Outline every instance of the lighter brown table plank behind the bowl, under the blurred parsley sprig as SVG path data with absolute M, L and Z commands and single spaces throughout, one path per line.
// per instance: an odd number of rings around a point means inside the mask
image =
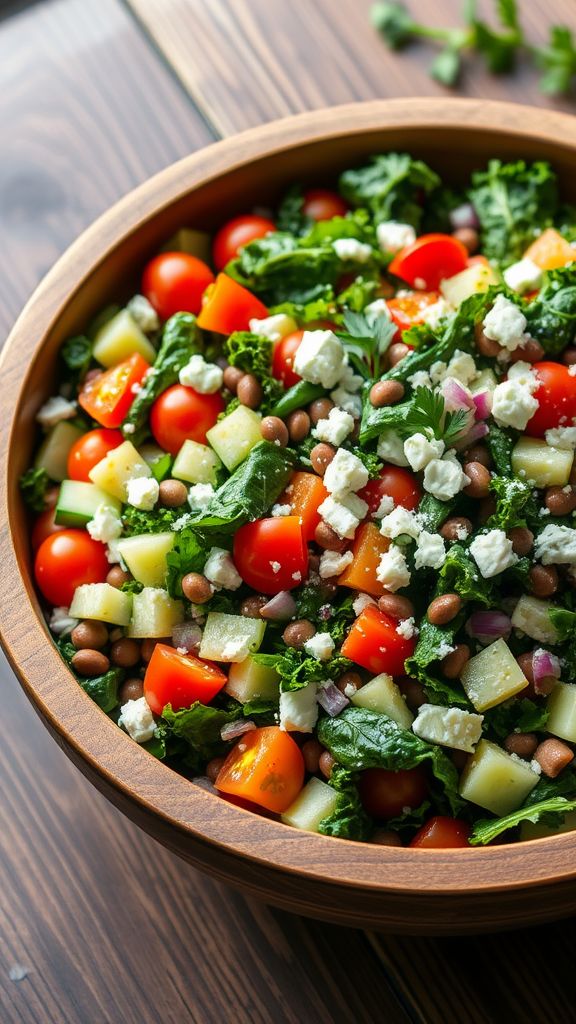
M 354 99 L 447 95 L 430 80 L 436 50 L 411 46 L 390 53 L 370 25 L 372 0 L 128 0 L 206 117 L 221 134 L 262 121 Z M 461 25 L 460 0 L 408 3 L 428 25 Z M 491 0 L 479 9 L 493 16 Z M 542 42 L 547 26 L 576 28 L 572 0 L 541 6 L 521 0 L 526 31 Z M 526 61 L 513 76 L 487 74 L 471 59 L 461 92 L 572 109 L 538 90 L 538 75 Z

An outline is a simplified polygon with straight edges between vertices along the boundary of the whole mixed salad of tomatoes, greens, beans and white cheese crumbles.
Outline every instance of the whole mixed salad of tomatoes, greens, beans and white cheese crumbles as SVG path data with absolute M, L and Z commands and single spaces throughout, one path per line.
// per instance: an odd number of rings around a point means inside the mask
M 133 740 L 326 836 L 576 827 L 575 214 L 545 163 L 379 155 L 66 341 L 35 577 Z

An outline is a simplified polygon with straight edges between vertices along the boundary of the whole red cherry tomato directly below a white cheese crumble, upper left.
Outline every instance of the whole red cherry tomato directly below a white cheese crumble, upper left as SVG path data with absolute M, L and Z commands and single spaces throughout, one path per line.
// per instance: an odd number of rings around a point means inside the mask
M 170 455 L 177 455 L 188 439 L 205 444 L 206 431 L 214 426 L 223 409 L 219 392 L 199 394 L 192 387 L 173 384 L 150 411 L 154 439 Z

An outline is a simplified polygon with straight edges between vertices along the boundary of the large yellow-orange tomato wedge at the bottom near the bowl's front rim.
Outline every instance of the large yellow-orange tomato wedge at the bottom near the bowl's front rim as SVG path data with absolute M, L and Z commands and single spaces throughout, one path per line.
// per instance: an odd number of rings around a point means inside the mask
M 280 814 L 296 799 L 303 781 L 304 759 L 298 744 L 289 733 L 270 725 L 244 733 L 214 785 L 220 793 Z

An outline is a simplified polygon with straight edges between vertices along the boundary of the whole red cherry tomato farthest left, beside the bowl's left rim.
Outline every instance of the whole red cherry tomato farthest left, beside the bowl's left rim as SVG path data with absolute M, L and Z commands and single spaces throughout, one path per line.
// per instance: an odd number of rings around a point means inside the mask
M 83 529 L 51 534 L 36 552 L 36 583 L 50 604 L 70 605 L 84 583 L 104 583 L 110 569 L 106 548 Z

